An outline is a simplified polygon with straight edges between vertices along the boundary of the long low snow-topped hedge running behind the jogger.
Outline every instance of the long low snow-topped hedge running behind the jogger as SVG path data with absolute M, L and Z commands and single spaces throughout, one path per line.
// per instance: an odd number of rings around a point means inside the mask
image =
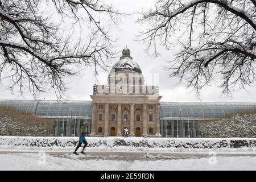
M 148 148 L 241 148 L 256 147 L 256 138 L 139 138 L 87 137 L 88 147 L 148 147 Z M 5 137 L 0 146 L 75 147 L 77 137 Z

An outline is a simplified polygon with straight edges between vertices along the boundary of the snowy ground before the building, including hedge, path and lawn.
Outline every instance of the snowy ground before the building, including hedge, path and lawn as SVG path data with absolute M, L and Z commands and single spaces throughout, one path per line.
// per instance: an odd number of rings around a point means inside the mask
M 0 170 L 256 170 L 255 138 L 0 137 Z M 79 149 L 81 151 L 81 148 Z

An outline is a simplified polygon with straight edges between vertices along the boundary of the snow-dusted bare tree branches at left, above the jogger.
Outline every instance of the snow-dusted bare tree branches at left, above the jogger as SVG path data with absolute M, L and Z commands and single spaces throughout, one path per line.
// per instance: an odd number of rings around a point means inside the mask
M 0 82 L 4 89 L 18 87 L 21 94 L 29 90 L 35 97 L 54 89 L 61 98 L 67 90 L 65 77 L 79 75 L 88 66 L 97 75 L 98 68 L 105 70 L 115 57 L 110 31 L 118 27 L 119 16 L 124 14 L 111 5 L 97 0 L 0 2 Z M 38 8 L 43 6 L 54 8 L 45 13 Z M 66 19 L 72 29 L 65 30 Z M 86 32 L 84 37 L 73 34 L 77 26 Z

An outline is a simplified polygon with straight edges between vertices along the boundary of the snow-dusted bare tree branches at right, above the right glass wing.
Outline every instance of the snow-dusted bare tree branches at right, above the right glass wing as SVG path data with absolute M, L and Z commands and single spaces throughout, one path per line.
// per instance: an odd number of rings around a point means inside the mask
M 255 18 L 253 0 L 157 1 L 138 20 L 149 25 L 139 40 L 155 56 L 159 45 L 175 52 L 166 69 L 197 94 L 216 78 L 231 94 L 255 83 Z

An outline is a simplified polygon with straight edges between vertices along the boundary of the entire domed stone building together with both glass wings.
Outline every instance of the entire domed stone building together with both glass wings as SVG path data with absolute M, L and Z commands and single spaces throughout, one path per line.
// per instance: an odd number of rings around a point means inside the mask
M 106 84 L 93 85 L 92 101 L 0 100 L 0 107 L 52 119 L 56 137 L 79 136 L 85 121 L 90 137 L 123 136 L 125 127 L 134 137 L 204 137 L 200 121 L 256 112 L 252 102 L 160 102 L 159 86 L 144 84 L 130 55 L 123 49 Z

